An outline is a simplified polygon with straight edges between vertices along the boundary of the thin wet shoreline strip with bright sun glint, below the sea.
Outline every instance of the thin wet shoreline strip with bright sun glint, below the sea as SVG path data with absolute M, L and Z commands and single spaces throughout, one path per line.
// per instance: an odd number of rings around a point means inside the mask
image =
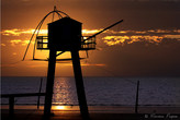
M 65 108 L 59 108 L 53 106 L 52 110 L 56 111 L 79 111 L 79 106 L 64 106 Z M 134 113 L 133 106 L 88 106 L 90 112 L 115 112 L 115 113 Z M 8 105 L 2 105 L 1 110 L 8 110 Z M 35 105 L 33 106 L 14 106 L 15 110 L 33 110 L 37 109 Z M 40 106 L 40 110 L 44 107 Z M 180 113 L 180 106 L 139 106 L 138 113 Z

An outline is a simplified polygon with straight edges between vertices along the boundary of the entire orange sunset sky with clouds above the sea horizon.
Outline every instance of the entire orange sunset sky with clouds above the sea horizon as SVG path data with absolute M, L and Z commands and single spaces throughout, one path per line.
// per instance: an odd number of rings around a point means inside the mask
M 82 23 L 85 36 L 124 20 L 97 36 L 97 50 L 81 60 L 85 76 L 180 76 L 180 0 L 1 0 L 2 76 L 46 76 L 47 61 L 31 60 L 34 43 L 22 58 L 34 28 L 55 4 Z M 35 57 L 46 59 L 48 52 L 37 50 Z M 56 64 L 56 76 L 72 75 L 71 62 Z

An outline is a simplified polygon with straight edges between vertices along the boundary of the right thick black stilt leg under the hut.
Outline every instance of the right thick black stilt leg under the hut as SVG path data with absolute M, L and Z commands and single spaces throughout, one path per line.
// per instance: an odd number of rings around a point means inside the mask
M 79 51 L 71 51 L 72 64 L 74 64 L 74 73 L 76 80 L 76 87 L 78 94 L 78 100 L 80 106 L 80 112 L 85 120 L 89 119 L 89 111 L 87 106 L 81 67 L 80 67 L 80 59 L 79 59 Z

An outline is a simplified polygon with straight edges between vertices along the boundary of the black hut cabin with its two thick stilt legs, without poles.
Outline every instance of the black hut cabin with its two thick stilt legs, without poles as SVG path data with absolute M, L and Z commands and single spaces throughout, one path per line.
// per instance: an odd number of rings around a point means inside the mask
M 80 106 L 80 111 L 83 117 L 88 117 L 88 107 L 82 81 L 82 73 L 80 68 L 79 50 L 94 49 L 93 47 L 81 47 L 81 23 L 75 21 L 70 17 L 63 17 L 58 21 L 48 24 L 48 44 L 49 48 L 49 61 L 48 61 L 48 73 L 47 73 L 47 87 L 45 97 L 45 110 L 44 113 L 48 115 L 52 107 L 52 96 L 53 96 L 53 82 L 55 75 L 55 64 L 56 64 L 56 52 L 57 51 L 70 51 L 74 64 L 74 73 L 77 86 L 78 100 Z M 41 45 L 43 43 L 38 43 Z M 38 46 L 37 45 L 37 46 Z M 40 48 L 41 49 L 41 48 Z

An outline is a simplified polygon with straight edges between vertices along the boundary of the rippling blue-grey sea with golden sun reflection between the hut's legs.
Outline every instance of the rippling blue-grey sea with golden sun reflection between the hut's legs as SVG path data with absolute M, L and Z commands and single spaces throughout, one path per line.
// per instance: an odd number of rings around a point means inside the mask
M 38 93 L 46 88 L 46 77 L 1 77 L 1 94 Z M 134 106 L 137 81 L 139 106 L 180 106 L 180 77 L 83 77 L 88 106 Z M 41 97 L 41 105 L 44 104 Z M 15 105 L 36 105 L 37 97 L 15 98 Z M 8 105 L 8 98 L 1 98 Z M 74 77 L 55 77 L 53 105 L 77 106 Z

